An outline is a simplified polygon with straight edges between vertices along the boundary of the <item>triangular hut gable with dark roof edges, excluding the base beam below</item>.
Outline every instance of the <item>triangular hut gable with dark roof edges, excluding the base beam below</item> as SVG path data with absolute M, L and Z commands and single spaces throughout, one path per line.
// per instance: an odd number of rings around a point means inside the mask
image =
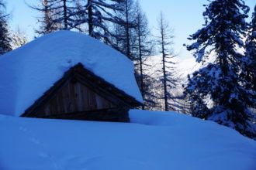
M 88 110 L 131 107 L 133 104 L 136 106 L 139 102 L 78 64 L 67 71 L 22 116 L 69 115 Z

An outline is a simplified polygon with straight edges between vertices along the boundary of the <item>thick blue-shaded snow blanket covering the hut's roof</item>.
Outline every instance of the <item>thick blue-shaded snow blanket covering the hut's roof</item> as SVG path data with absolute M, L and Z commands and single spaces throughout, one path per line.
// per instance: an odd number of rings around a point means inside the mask
M 23 114 L 78 63 L 143 102 L 130 59 L 92 37 L 59 31 L 0 56 L 0 114 Z

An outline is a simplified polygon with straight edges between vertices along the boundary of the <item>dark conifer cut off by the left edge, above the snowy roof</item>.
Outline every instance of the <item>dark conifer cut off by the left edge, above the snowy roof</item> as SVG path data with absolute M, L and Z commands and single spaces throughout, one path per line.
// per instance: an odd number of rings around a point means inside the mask
M 11 48 L 11 39 L 7 23 L 7 14 L 5 14 L 5 3 L 0 0 L 0 55 L 9 52 Z

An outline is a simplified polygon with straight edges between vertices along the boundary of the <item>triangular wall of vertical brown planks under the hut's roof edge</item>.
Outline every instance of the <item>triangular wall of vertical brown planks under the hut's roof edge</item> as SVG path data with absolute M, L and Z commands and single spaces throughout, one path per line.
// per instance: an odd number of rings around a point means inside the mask
M 37 111 L 37 116 L 67 114 L 87 110 L 115 108 L 109 100 L 79 82 L 67 82 L 64 87 Z

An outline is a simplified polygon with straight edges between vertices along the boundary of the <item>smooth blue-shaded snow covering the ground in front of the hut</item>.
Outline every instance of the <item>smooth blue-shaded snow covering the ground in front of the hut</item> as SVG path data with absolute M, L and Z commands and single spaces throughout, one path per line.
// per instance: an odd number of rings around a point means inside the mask
M 132 123 L 0 115 L 0 169 L 254 170 L 256 142 L 211 121 L 131 110 Z

